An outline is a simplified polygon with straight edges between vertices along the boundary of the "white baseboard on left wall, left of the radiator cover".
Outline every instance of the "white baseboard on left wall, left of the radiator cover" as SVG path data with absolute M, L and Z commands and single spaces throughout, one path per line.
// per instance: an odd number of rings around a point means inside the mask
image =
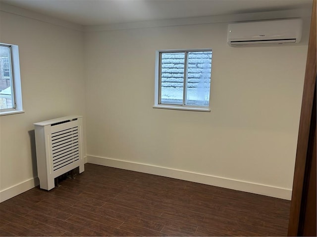
M 11 197 L 15 197 L 19 194 L 22 194 L 40 184 L 39 178 L 31 178 L 26 181 L 23 181 L 19 184 L 13 185 L 7 189 L 0 191 L 0 202 L 5 201 Z

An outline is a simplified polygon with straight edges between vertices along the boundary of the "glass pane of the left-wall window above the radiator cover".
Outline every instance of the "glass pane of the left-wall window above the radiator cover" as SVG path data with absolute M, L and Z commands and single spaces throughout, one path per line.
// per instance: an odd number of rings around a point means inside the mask
M 10 47 L 0 46 L 0 109 L 14 108 Z

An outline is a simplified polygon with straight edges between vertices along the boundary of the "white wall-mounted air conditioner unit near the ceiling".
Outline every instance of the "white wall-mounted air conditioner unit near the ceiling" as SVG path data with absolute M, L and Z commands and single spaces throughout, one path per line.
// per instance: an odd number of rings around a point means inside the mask
M 231 23 L 227 42 L 230 46 L 260 46 L 299 43 L 302 19 L 282 19 Z

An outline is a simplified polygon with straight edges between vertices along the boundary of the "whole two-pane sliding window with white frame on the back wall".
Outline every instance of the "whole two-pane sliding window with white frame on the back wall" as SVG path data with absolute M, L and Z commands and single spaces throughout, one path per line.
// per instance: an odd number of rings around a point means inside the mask
M 211 49 L 157 51 L 154 108 L 210 111 Z

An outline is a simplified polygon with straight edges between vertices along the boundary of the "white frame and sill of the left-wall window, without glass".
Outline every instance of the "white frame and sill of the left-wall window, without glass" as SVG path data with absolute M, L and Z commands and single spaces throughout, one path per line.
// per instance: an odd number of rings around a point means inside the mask
M 11 85 L 11 97 L 12 97 L 12 105 L 13 105 L 13 108 L 0 109 L 0 116 L 24 113 L 22 108 L 19 47 L 18 45 L 7 44 L 7 43 L 0 43 L 0 46 L 9 48 L 9 64 L 11 66 L 10 85 Z

